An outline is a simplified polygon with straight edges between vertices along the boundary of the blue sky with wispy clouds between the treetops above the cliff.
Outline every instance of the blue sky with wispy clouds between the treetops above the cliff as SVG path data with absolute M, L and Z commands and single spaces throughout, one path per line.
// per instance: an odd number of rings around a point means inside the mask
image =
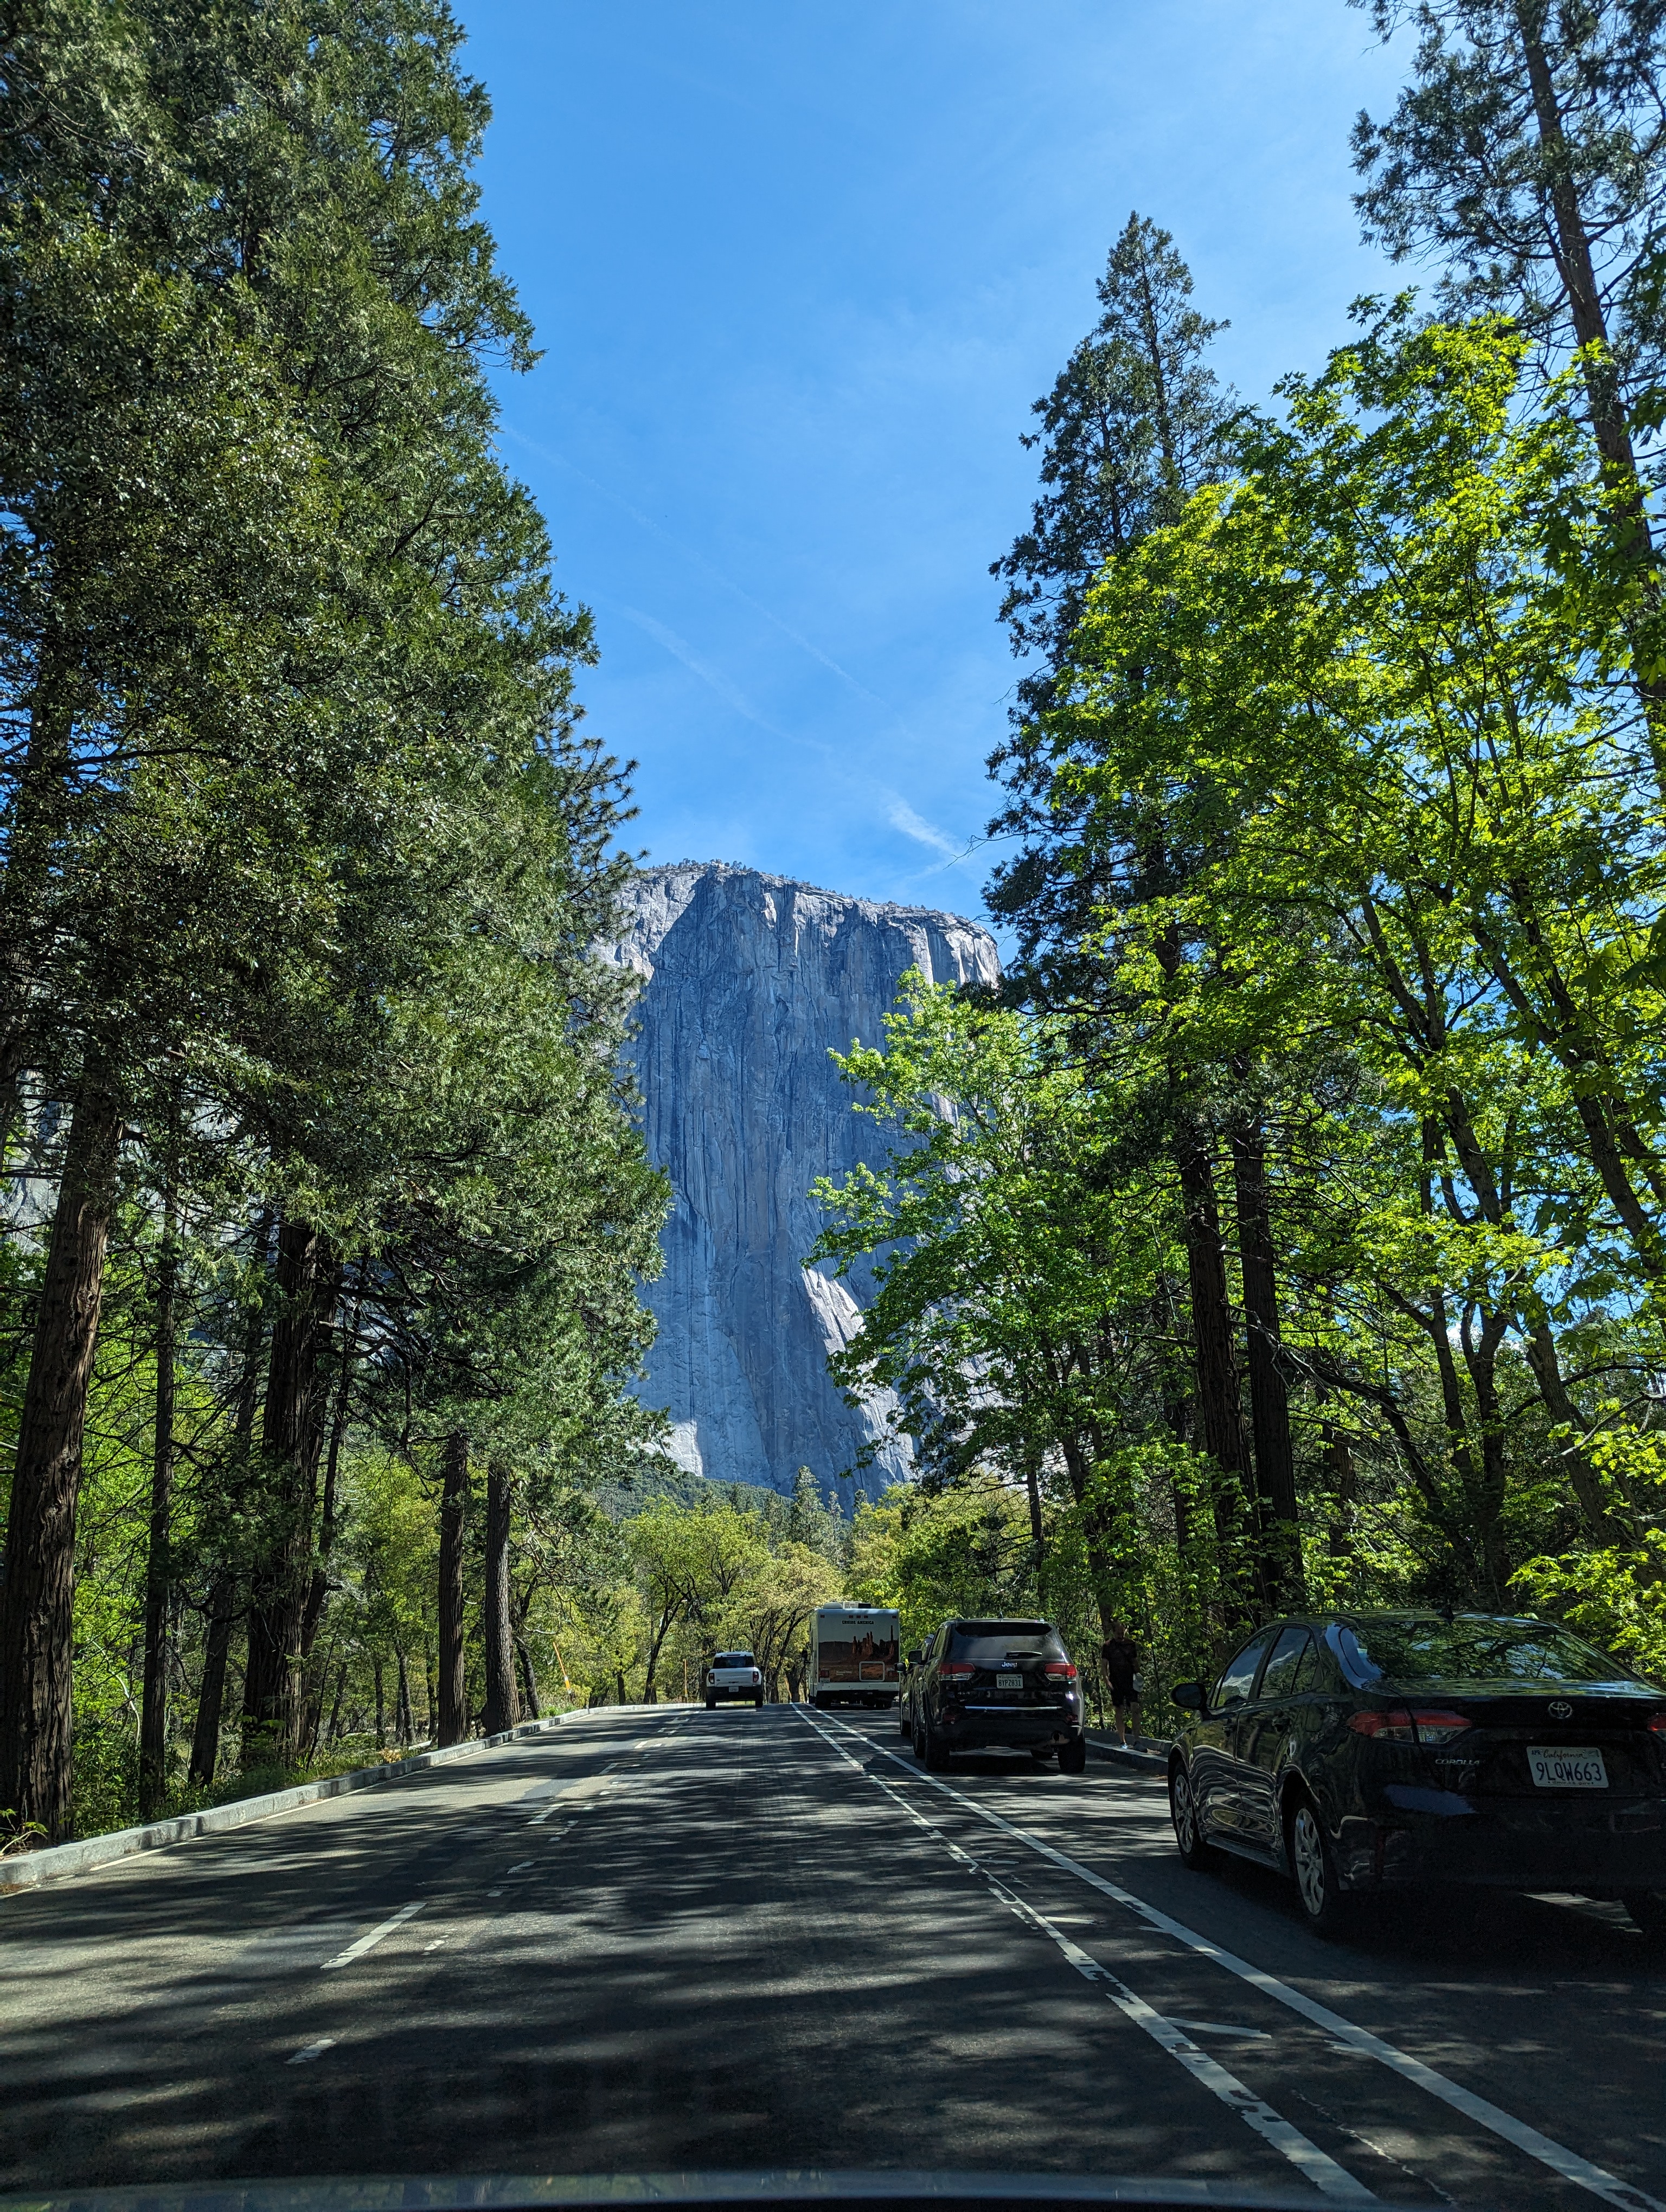
M 1248 398 L 1383 290 L 1343 0 L 460 0 L 544 361 L 509 467 L 597 617 L 637 841 L 980 911 L 1018 438 L 1137 208 Z

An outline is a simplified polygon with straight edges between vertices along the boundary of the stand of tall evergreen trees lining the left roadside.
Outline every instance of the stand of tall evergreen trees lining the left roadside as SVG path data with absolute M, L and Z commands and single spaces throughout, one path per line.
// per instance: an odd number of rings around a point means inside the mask
M 445 0 L 4 33 L 18 1836 L 71 1829 L 77 1770 L 128 1816 L 226 1739 L 292 1770 L 365 1697 L 507 1725 L 529 1582 L 657 1436 L 666 1190 L 595 956 L 626 790 L 496 458 L 487 374 L 535 354 L 458 44 Z

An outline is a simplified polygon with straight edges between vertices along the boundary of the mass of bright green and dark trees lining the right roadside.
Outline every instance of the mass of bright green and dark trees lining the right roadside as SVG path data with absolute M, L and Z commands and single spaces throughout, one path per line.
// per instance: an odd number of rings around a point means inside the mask
M 1666 1677 L 1666 15 L 1372 13 L 1358 210 L 1434 292 L 1263 411 L 1135 215 L 1038 400 L 1018 958 L 845 1062 L 900 1141 L 821 1188 L 836 1367 L 1011 1495 L 991 1593 L 1168 1674 L 1305 1597 Z

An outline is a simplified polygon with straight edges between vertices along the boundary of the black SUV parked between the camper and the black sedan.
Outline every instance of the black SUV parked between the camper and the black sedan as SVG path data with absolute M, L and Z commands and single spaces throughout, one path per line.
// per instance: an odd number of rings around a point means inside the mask
M 1062 1774 L 1089 1761 L 1082 1688 L 1051 1621 L 945 1621 L 912 1657 L 907 1717 L 914 1756 L 934 1772 L 991 1747 L 1058 1754 Z

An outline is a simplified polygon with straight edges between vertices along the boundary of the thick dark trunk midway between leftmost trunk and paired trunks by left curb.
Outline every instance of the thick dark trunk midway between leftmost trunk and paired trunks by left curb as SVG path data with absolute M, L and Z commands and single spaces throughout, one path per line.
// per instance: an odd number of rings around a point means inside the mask
M 285 1221 L 279 1230 L 277 1279 L 283 1305 L 272 1327 L 261 1413 L 270 1522 L 248 1610 L 246 1767 L 288 1765 L 301 1747 L 301 1630 L 323 1444 L 319 1340 L 334 1314 L 327 1252 L 305 1221 Z

